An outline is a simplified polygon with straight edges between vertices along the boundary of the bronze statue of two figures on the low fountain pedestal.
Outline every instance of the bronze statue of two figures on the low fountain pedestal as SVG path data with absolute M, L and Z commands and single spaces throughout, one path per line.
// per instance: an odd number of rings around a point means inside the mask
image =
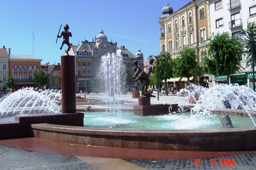
M 154 59 L 151 58 L 149 59 L 149 66 L 147 67 L 147 71 L 143 71 L 139 66 L 138 66 L 138 61 L 135 60 L 133 61 L 133 72 L 134 76 L 132 79 L 133 82 L 140 81 L 142 88 L 141 88 L 141 97 L 146 96 L 146 97 L 155 97 L 155 95 L 151 95 L 149 92 L 147 92 L 147 89 L 145 87 L 149 86 L 150 80 L 148 79 L 151 72 L 154 73 L 154 65 L 153 65 Z M 145 84 L 146 82 L 146 84 Z

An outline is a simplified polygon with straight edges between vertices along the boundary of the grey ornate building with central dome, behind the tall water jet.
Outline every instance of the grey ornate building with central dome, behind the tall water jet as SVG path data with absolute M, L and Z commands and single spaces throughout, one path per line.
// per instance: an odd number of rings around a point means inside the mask
M 69 51 L 70 55 L 76 58 L 76 76 L 77 76 L 77 92 L 92 92 L 91 79 L 98 73 L 101 57 L 103 55 L 116 53 L 118 49 L 122 51 L 123 63 L 126 65 L 126 70 L 133 74 L 132 63 L 134 60 L 139 62 L 143 68 L 143 53 L 138 50 L 136 56 L 132 54 L 125 46 L 117 47 L 117 42 L 108 41 L 107 36 L 101 29 L 99 34 L 92 38 L 92 41 L 84 40 L 81 44 L 71 44 Z

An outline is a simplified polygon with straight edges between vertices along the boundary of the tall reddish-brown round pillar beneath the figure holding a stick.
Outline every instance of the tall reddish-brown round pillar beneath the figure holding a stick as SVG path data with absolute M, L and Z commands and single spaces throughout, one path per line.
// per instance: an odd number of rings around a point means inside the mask
M 62 113 L 76 113 L 75 56 L 61 56 L 61 105 Z

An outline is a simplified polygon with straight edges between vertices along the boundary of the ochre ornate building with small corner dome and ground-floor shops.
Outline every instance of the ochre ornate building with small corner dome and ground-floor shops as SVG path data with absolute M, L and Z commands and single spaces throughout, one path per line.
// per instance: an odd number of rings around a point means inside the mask
M 195 48 L 198 61 L 203 62 L 207 38 L 210 36 L 210 13 L 206 0 L 191 0 L 179 10 L 173 12 L 168 1 L 159 17 L 160 53 L 169 52 L 177 58 L 185 47 Z M 170 78 L 168 84 L 177 90 L 186 86 L 187 78 Z M 211 75 L 200 75 L 190 78 L 190 82 L 208 85 Z

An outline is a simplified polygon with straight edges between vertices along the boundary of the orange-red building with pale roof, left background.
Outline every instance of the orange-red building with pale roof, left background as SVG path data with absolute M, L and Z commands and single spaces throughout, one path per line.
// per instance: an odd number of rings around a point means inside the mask
M 15 79 L 14 90 L 22 87 L 35 87 L 33 72 L 41 69 L 42 59 L 31 55 L 9 54 L 9 76 Z

